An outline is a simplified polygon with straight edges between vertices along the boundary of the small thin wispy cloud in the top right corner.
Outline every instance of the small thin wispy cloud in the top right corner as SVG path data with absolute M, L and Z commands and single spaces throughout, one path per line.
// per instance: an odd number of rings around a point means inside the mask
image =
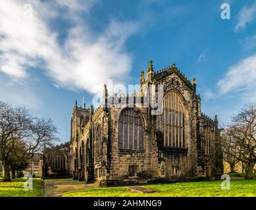
M 245 28 L 247 24 L 253 21 L 255 16 L 256 16 L 256 1 L 253 2 L 253 5 L 251 5 L 251 7 L 245 6 L 239 12 L 234 31 L 240 31 L 243 28 Z

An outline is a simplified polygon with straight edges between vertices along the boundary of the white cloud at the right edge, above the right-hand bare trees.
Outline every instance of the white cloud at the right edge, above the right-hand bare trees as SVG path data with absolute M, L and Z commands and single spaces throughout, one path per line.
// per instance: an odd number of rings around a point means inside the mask
M 245 58 L 238 64 L 230 67 L 217 85 L 220 94 L 231 91 L 242 91 L 256 87 L 256 54 Z

